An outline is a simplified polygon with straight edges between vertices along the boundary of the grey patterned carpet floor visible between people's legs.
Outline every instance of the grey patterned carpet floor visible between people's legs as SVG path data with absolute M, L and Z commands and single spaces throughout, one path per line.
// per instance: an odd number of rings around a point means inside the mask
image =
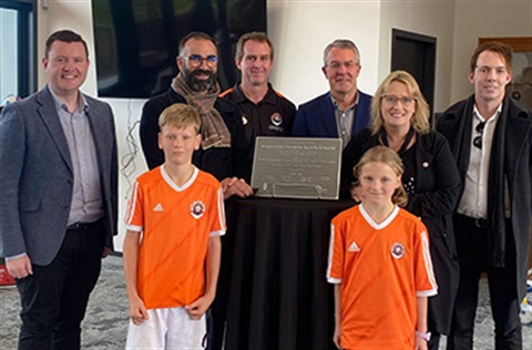
M 532 295 L 529 296 L 532 300 Z M 2 350 L 17 349 L 19 311 L 20 302 L 17 289 L 0 289 L 0 349 Z M 127 331 L 127 313 L 122 258 L 111 256 L 103 260 L 100 280 L 89 302 L 82 325 L 82 348 L 123 349 Z M 481 301 L 475 323 L 474 348 L 479 350 L 494 349 L 493 322 L 485 281 L 481 282 Z M 532 350 L 532 325 L 523 326 L 523 348 Z M 444 349 L 444 339 L 440 349 Z

